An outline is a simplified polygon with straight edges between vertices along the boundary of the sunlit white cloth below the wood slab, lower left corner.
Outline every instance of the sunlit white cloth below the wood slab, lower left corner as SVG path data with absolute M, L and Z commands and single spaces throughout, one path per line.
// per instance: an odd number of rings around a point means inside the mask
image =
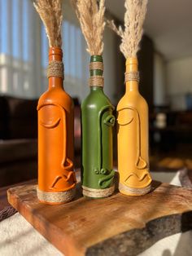
M 0 223 L 1 256 L 61 256 L 20 214 Z

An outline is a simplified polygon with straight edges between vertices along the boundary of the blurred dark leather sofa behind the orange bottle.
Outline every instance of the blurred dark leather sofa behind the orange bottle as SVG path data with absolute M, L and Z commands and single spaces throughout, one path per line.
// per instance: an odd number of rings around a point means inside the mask
M 75 99 L 75 167 L 80 166 L 80 107 Z M 37 99 L 0 96 L 0 187 L 37 178 Z

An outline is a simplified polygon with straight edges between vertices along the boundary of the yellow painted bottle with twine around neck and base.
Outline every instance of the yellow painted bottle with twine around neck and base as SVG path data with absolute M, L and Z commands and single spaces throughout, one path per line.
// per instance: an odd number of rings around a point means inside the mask
M 148 106 L 138 90 L 137 58 L 126 60 L 126 91 L 117 106 L 119 190 L 129 196 L 151 191 Z

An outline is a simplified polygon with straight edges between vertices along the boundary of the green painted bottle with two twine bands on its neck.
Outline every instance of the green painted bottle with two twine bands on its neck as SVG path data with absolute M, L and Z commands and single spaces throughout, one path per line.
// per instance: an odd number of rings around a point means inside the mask
M 90 58 L 90 92 L 81 104 L 83 195 L 93 198 L 114 192 L 114 107 L 103 92 L 103 57 Z

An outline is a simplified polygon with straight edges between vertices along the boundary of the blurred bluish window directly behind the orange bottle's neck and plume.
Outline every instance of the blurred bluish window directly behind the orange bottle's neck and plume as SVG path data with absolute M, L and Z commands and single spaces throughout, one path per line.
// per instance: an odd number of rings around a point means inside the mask
M 85 52 L 85 41 L 81 29 L 69 21 L 63 21 L 64 88 L 72 97 L 84 99 L 88 90 L 89 55 Z M 43 68 L 44 90 L 47 88 L 46 67 L 48 65 L 48 40 L 41 24 L 41 65 Z M 86 70 L 87 69 L 87 70 Z

